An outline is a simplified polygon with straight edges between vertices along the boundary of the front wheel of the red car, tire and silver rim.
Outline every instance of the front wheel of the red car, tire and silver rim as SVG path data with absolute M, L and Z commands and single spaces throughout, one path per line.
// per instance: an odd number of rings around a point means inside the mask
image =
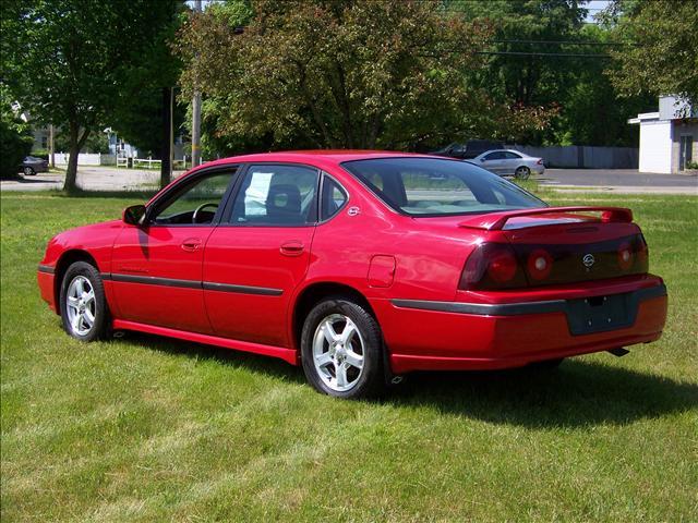
M 60 307 L 63 329 L 73 338 L 88 342 L 107 337 L 109 311 L 101 277 L 93 265 L 75 262 L 68 268 L 61 281 Z

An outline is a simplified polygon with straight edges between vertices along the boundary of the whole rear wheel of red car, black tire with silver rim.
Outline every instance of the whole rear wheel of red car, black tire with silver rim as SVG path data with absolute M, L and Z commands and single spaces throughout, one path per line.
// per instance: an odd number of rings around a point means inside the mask
M 375 397 L 385 387 L 381 327 L 363 306 L 347 297 L 328 297 L 309 313 L 301 333 L 301 360 L 310 385 L 335 398 Z

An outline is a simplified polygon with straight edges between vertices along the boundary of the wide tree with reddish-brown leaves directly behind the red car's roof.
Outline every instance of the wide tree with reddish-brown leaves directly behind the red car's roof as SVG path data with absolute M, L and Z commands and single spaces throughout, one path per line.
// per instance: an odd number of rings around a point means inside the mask
M 521 111 L 466 83 L 489 27 L 441 5 L 260 0 L 244 31 L 207 10 L 183 28 L 181 82 L 216 100 L 221 135 L 277 147 L 417 148 L 492 134 Z M 527 129 L 540 124 L 540 111 L 526 115 Z

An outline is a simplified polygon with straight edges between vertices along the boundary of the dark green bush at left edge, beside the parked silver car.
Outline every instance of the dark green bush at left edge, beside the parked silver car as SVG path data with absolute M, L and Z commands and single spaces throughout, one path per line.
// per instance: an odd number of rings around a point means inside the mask
M 34 137 L 29 127 L 12 110 L 14 100 L 0 83 L 0 177 L 15 177 L 20 163 L 32 150 Z

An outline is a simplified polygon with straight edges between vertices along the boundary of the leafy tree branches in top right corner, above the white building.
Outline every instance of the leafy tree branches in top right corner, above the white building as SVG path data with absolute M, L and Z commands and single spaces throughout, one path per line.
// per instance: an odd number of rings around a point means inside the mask
M 698 9 L 691 1 L 614 0 L 605 22 L 628 44 L 609 70 L 624 95 L 678 95 L 698 105 Z

